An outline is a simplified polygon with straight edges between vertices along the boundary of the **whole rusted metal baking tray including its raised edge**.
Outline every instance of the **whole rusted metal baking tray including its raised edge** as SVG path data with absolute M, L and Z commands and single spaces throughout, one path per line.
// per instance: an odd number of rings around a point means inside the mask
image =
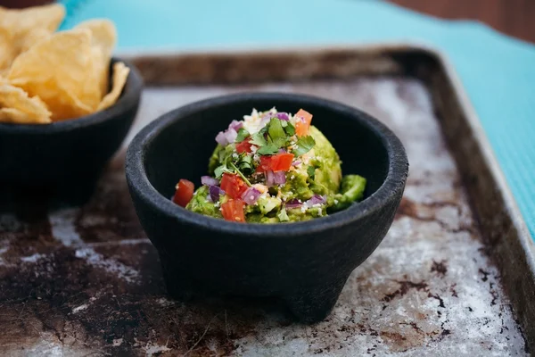
M 83 207 L 15 204 L 0 215 L 1 355 L 533 351 L 531 237 L 440 54 L 373 46 L 132 60 L 148 87 L 129 138 L 171 108 L 243 90 L 320 95 L 374 114 L 411 164 L 397 219 L 317 325 L 292 323 L 270 301 L 171 301 L 130 203 L 123 149 Z

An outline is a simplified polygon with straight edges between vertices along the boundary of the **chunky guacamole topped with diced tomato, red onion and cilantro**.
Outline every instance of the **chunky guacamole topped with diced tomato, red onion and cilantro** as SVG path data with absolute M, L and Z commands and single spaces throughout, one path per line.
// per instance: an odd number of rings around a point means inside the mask
M 311 220 L 360 200 L 366 179 L 342 177 L 333 145 L 312 114 L 253 110 L 216 137 L 202 187 L 181 179 L 173 201 L 187 210 L 238 222 Z

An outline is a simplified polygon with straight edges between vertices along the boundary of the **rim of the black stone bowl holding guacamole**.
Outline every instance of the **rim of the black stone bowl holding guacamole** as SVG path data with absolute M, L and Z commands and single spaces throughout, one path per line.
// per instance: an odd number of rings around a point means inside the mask
M 161 195 L 152 186 L 144 168 L 145 150 L 151 144 L 152 140 L 158 137 L 163 130 L 167 129 L 175 121 L 213 108 L 214 106 L 237 104 L 245 99 L 275 101 L 276 99 L 280 100 L 281 96 L 284 96 L 284 99 L 288 101 L 298 101 L 300 105 L 314 103 L 315 105 L 327 106 L 333 112 L 349 114 L 354 120 L 360 121 L 367 129 L 374 131 L 386 147 L 389 158 L 388 173 L 381 187 L 377 188 L 372 195 L 369 195 L 358 204 L 351 205 L 341 212 L 336 212 L 325 217 L 277 224 L 243 224 L 188 211 L 176 203 L 172 203 L 169 197 Z M 136 137 L 128 145 L 125 173 L 130 190 L 136 191 L 139 198 L 144 200 L 145 203 L 148 203 L 153 210 L 161 211 L 169 218 L 174 218 L 197 228 L 210 229 L 227 234 L 250 235 L 255 237 L 289 237 L 340 228 L 382 209 L 391 201 L 392 193 L 399 193 L 399 196 L 402 195 L 407 180 L 408 160 L 404 146 L 391 129 L 388 129 L 382 122 L 357 108 L 313 95 L 283 92 L 242 92 L 211 97 L 191 104 L 185 104 L 152 120 L 151 123 L 136 134 Z

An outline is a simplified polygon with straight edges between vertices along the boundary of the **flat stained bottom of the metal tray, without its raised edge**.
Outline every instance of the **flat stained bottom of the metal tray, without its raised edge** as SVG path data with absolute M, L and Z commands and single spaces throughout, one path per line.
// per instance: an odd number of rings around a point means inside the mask
M 350 276 L 333 314 L 304 326 L 273 302 L 169 300 L 118 154 L 84 207 L 48 212 L 37 203 L 0 214 L 1 355 L 528 354 L 419 82 L 149 88 L 136 129 L 178 105 L 249 89 L 357 105 L 407 149 L 397 219 Z

